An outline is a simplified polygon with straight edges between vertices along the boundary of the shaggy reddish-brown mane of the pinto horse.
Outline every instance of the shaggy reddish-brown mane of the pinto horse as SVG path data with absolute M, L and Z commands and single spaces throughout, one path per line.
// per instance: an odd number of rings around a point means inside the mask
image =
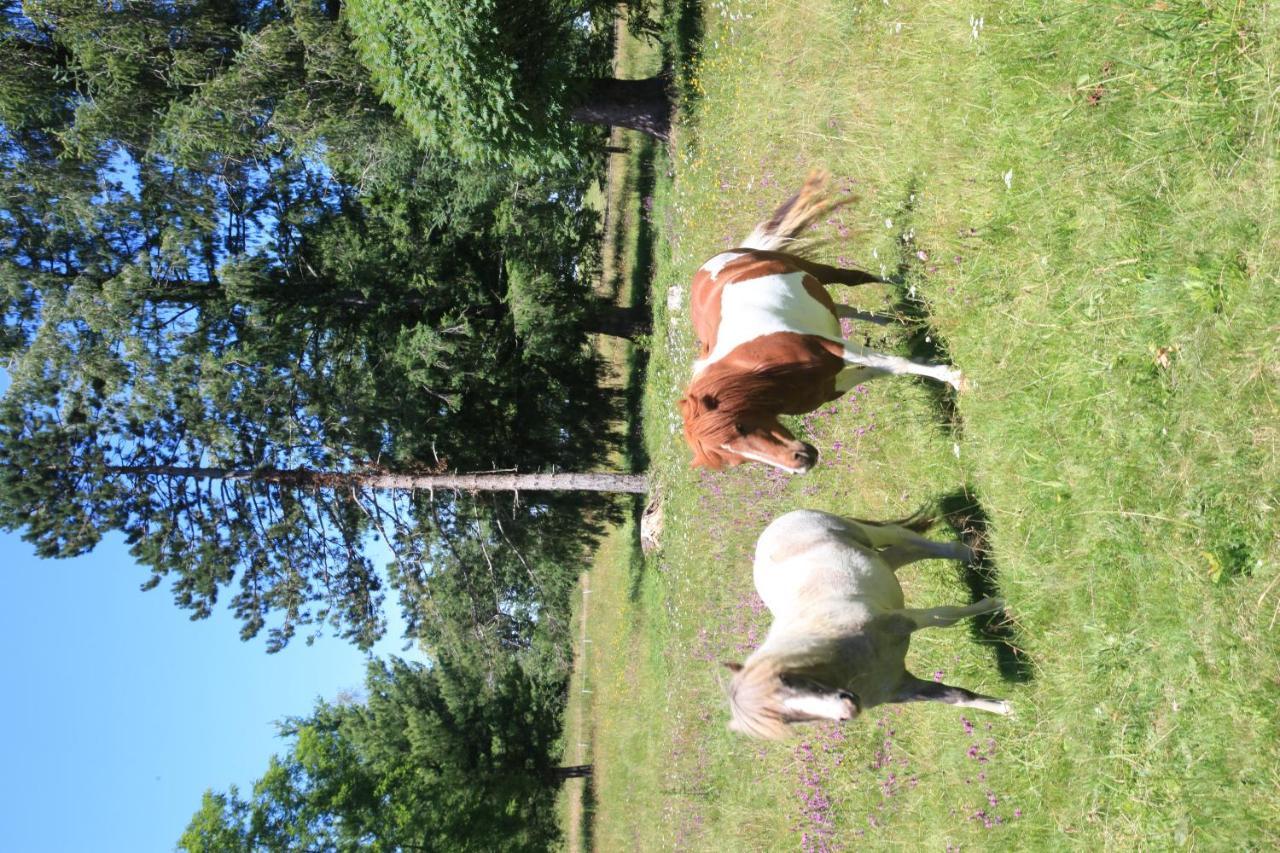
M 724 465 L 721 446 L 737 438 L 737 424 L 749 412 L 769 412 L 767 401 L 780 382 L 795 369 L 778 365 L 750 373 L 718 369 L 712 365 L 694 379 L 689 392 L 680 398 L 685 420 L 685 441 L 694 451 L 694 465 L 718 470 Z

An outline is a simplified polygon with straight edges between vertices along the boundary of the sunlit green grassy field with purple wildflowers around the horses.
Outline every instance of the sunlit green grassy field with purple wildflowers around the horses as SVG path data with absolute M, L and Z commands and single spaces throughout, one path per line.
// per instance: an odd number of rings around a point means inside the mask
M 590 847 L 1280 845 L 1280 6 L 710 1 L 658 151 L 644 400 L 663 548 L 618 530 L 584 653 Z M 797 419 L 810 475 L 692 471 L 692 272 L 824 167 L 815 234 L 893 286 L 855 338 L 948 359 Z M 932 353 L 932 355 L 931 355 Z M 909 666 L 1010 719 L 873 710 L 764 745 L 724 670 L 768 624 L 749 552 L 796 507 L 969 507 L 992 565 L 902 571 L 911 606 L 995 587 L 1007 621 Z M 956 517 L 956 516 L 952 516 Z M 938 537 L 951 535 L 940 525 Z

